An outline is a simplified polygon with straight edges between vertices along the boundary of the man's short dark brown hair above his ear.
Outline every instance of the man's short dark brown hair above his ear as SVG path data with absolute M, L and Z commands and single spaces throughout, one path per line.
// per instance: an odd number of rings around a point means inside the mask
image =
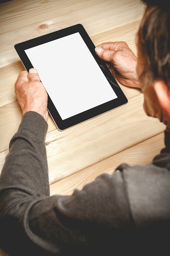
M 139 50 L 144 60 L 144 72 L 139 79 L 149 83 L 161 79 L 170 89 L 170 11 L 160 7 L 164 3 L 164 0 L 148 0 L 146 3 L 138 31 Z

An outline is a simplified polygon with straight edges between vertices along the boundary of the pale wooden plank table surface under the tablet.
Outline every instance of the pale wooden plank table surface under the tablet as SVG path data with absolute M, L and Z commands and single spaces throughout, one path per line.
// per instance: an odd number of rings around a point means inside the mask
M 24 70 L 14 45 L 81 23 L 95 45 L 126 41 L 137 54 L 140 0 L 11 0 L 0 4 L 0 171 L 22 112 L 14 83 Z M 165 126 L 147 117 L 143 94 L 119 83 L 128 103 L 59 131 L 49 116 L 46 150 L 51 195 L 70 194 L 122 162 L 146 164 L 163 148 Z M 0 250 L 0 256 L 7 255 Z

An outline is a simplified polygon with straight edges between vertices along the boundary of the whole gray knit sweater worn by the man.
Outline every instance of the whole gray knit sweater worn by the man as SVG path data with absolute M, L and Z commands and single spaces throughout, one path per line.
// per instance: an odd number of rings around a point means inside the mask
M 121 164 L 81 191 L 50 196 L 47 128 L 27 112 L 11 139 L 0 175 L 0 247 L 16 256 L 170 255 L 170 133 L 151 164 Z

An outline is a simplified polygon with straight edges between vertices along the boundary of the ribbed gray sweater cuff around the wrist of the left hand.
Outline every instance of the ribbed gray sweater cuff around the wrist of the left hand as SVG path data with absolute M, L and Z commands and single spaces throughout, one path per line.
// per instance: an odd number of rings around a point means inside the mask
M 34 111 L 29 111 L 22 116 L 18 131 L 21 129 L 29 129 L 45 141 L 48 124 L 42 115 Z

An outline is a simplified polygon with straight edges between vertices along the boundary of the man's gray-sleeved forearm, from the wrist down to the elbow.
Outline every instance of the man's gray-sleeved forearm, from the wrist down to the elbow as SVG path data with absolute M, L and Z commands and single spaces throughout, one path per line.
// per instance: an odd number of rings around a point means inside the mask
M 0 191 L 22 190 L 29 195 L 49 195 L 45 135 L 48 125 L 39 114 L 27 112 L 10 141 L 0 176 Z

